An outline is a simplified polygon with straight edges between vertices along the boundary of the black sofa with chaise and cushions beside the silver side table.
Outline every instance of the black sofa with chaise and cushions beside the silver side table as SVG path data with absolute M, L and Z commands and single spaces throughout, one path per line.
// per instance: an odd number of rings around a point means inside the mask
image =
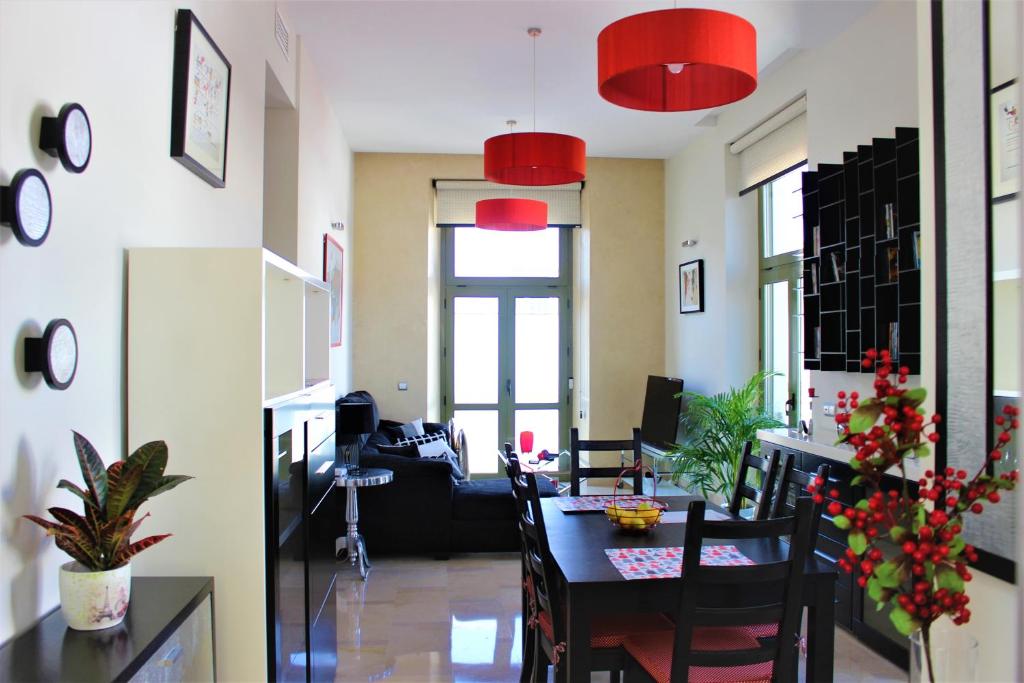
M 515 502 L 505 476 L 456 483 L 452 467 L 443 461 L 381 453 L 381 446 L 394 442 L 394 432 L 389 432 L 389 428 L 393 430 L 400 423 L 381 420 L 377 401 L 368 391 L 353 391 L 338 399 L 339 403 L 349 401 L 371 403 L 377 429 L 359 437 L 359 466 L 383 467 L 394 472 L 390 483 L 359 489 L 359 531 L 371 556 L 446 557 L 453 552 L 519 549 Z M 423 428 L 428 434 L 444 432 L 449 442 L 453 442 L 446 425 L 424 423 Z M 557 495 L 550 483 L 538 479 L 542 496 Z

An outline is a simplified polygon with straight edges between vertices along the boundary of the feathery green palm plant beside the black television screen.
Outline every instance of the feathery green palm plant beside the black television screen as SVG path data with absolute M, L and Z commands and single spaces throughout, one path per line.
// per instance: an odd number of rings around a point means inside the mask
M 672 480 L 697 487 L 705 498 L 727 500 L 746 441 L 758 443 L 759 429 L 784 427 L 764 407 L 765 383 L 777 373 L 759 372 L 743 386 L 705 396 L 685 392 L 685 440 L 669 452 Z

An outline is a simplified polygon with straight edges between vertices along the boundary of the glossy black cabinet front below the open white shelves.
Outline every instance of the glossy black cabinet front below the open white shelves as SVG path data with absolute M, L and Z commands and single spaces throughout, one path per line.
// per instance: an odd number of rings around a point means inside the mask
M 337 668 L 334 393 L 264 409 L 267 678 L 333 681 Z

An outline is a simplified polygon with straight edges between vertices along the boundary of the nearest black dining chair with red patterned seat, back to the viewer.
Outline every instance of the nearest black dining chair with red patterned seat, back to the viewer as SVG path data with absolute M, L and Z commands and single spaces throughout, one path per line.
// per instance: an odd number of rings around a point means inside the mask
M 810 542 L 810 499 L 798 501 L 796 514 L 761 521 L 705 521 L 703 501 L 693 501 L 686 516 L 680 601 L 673 632 L 626 639 L 627 681 L 657 683 L 754 683 L 797 680 L 801 624 L 801 584 Z M 767 544 L 788 536 L 782 559 L 745 566 L 700 563 L 705 539 Z M 723 585 L 734 598 L 709 604 L 709 589 Z M 754 630 L 774 624 L 781 637 L 759 638 Z

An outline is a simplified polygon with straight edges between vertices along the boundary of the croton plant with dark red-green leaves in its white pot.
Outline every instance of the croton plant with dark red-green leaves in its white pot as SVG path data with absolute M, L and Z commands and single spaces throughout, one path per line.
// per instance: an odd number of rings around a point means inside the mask
M 88 439 L 75 432 L 75 452 L 85 488 L 61 479 L 57 488 L 82 499 L 84 514 L 50 508 L 56 521 L 25 515 L 53 537 L 74 561 L 60 567 L 60 609 L 73 629 L 96 631 L 117 626 L 128 611 L 131 558 L 170 536 L 150 536 L 132 543 L 132 533 L 148 513 L 135 519 L 145 501 L 191 477 L 165 475 L 167 444 L 152 441 L 127 460 L 103 467 Z

